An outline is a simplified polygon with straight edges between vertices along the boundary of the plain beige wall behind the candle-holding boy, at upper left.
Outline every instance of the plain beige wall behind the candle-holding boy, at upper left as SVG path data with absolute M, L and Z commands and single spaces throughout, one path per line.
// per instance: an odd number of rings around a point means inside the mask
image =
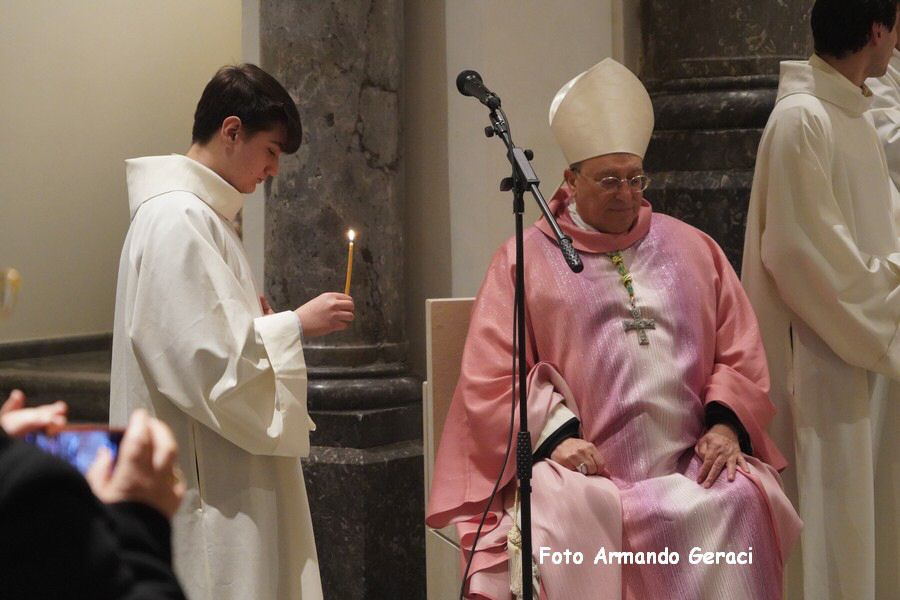
M 23 278 L 0 341 L 111 330 L 123 161 L 186 151 L 240 58 L 240 0 L 0 2 L 0 268 Z

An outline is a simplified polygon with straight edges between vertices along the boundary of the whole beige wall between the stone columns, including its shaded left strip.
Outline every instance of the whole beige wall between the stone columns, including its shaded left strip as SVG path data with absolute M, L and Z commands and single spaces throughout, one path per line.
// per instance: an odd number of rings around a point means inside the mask
M 408 0 L 405 8 L 407 334 L 410 363 L 424 374 L 425 299 L 474 295 L 514 233 L 510 194 L 498 191 L 510 170 L 502 142 L 484 137 L 488 111 L 456 91 L 456 76 L 474 69 L 502 98 L 513 141 L 534 150 L 549 200 L 565 167 L 547 124 L 550 101 L 614 55 L 623 11 L 614 15 L 612 0 Z M 530 197 L 526 206 L 527 225 L 538 211 Z

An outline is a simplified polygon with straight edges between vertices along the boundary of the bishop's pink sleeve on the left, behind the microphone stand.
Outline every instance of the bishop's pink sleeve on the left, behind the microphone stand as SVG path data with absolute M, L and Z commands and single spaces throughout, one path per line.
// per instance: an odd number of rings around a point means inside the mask
M 435 459 L 426 511 L 431 527 L 480 516 L 503 466 L 512 402 L 513 275 L 514 256 L 507 244 L 495 255 L 472 308 L 460 378 Z M 562 395 L 571 394 L 551 365 L 536 364 L 527 313 L 525 319 L 528 429 L 534 443 Z M 513 439 L 518 424 L 516 410 Z M 506 463 L 501 488 L 515 474 L 514 457 L 515 448 Z

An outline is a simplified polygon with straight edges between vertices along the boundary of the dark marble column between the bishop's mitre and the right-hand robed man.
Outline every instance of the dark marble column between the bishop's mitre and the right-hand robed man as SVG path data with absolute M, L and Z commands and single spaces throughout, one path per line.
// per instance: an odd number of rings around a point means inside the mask
M 813 0 L 642 0 L 643 66 L 656 112 L 645 167 L 654 210 L 706 231 L 736 269 L 756 149 L 778 63 L 812 53 Z

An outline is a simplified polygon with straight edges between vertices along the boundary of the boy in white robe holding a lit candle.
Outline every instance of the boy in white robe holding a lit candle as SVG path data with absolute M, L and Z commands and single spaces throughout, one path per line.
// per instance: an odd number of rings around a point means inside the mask
M 345 328 L 353 303 L 330 293 L 273 312 L 235 230 L 243 194 L 299 144 L 290 96 L 241 65 L 207 85 L 187 156 L 127 161 L 110 422 L 145 408 L 175 433 L 187 494 L 174 561 L 194 600 L 322 598 L 302 341 Z

